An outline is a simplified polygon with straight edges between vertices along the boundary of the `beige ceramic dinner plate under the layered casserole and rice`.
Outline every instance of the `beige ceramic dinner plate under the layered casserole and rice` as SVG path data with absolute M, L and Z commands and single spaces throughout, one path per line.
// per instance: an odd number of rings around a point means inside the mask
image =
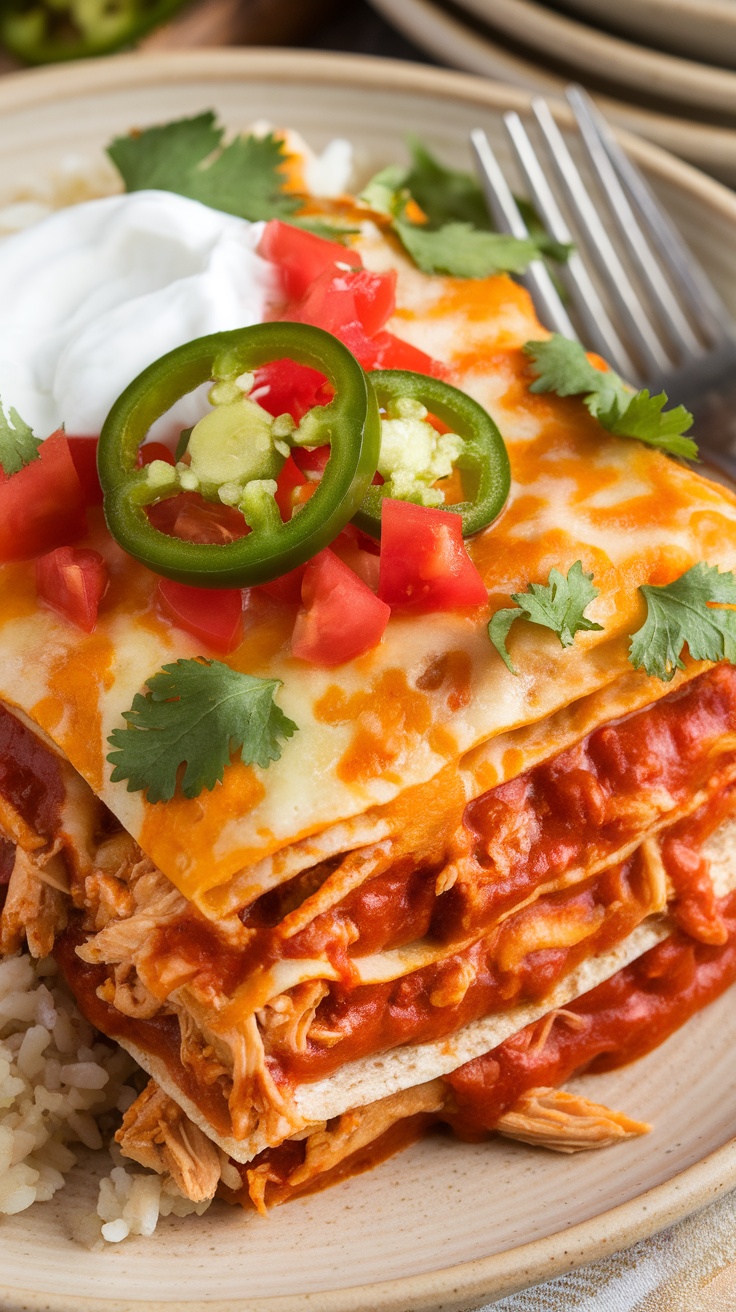
M 316 147 L 336 125 L 361 172 L 403 159 L 420 133 L 447 160 L 513 89 L 458 73 L 319 54 L 202 51 L 125 56 L 0 83 L 0 203 L 70 151 L 98 157 L 113 134 L 213 106 L 231 127 L 294 123 Z M 564 122 L 564 114 L 562 115 Z M 736 197 L 630 142 L 669 213 L 736 312 Z M 593 1081 L 579 1084 L 593 1092 Z M 54 1202 L 0 1221 L 4 1312 L 453 1312 L 592 1261 L 736 1185 L 736 1010 L 723 997 L 643 1061 L 594 1077 L 594 1096 L 651 1135 L 563 1157 L 436 1135 L 269 1220 L 215 1204 L 151 1240 L 88 1253 L 70 1216 L 96 1198 L 77 1168 Z

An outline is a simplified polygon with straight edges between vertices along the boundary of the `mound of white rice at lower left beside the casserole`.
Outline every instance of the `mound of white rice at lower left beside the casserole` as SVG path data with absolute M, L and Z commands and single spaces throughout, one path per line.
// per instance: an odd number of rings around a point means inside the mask
M 80 1015 L 49 958 L 0 962 L 0 1216 L 47 1202 L 75 1166 L 70 1144 L 101 1149 L 114 1113 L 136 1097 L 138 1069 L 122 1048 L 100 1040 Z M 75 1237 L 89 1246 L 152 1235 L 159 1216 L 202 1214 L 209 1202 L 182 1198 L 171 1179 L 118 1165 L 100 1182 L 97 1212 L 79 1218 Z

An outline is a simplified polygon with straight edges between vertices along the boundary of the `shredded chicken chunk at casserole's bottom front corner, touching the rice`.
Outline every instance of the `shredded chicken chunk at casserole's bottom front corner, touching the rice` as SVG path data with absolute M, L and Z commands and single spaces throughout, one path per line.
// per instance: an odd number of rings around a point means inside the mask
M 220 1152 L 155 1080 L 127 1109 L 115 1140 L 123 1156 L 159 1174 L 169 1174 L 192 1202 L 214 1198 L 220 1181 Z

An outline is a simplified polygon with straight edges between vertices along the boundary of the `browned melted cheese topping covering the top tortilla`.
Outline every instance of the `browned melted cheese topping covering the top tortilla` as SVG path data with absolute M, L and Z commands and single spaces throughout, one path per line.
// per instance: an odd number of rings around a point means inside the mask
M 369 266 L 399 269 L 391 329 L 449 365 L 506 440 L 509 501 L 470 543 L 488 611 L 394 617 L 379 647 L 331 670 L 290 656 L 289 617 L 253 614 L 228 661 L 282 680 L 278 703 L 299 732 L 268 771 L 232 765 L 211 792 L 152 806 L 110 783 L 105 740 L 146 680 L 165 661 L 199 655 L 201 644 L 160 614 L 155 577 L 123 556 L 101 522 L 89 543 L 105 554 L 112 586 L 93 635 L 37 604 L 33 563 L 0 571 L 0 698 L 54 740 L 177 888 L 215 918 L 232 905 L 235 886 L 257 887 L 266 867 L 274 882 L 299 869 L 304 851 L 319 851 L 323 830 L 332 850 L 357 834 L 379 838 L 382 808 L 472 749 L 476 792 L 527 768 L 527 747 L 558 749 L 543 723 L 572 703 L 589 724 L 592 715 L 609 719 L 613 705 L 660 697 L 672 685 L 634 674 L 627 660 L 628 635 L 644 617 L 638 586 L 669 583 L 698 560 L 736 567 L 735 496 L 638 442 L 607 437 L 580 401 L 529 391 L 521 346 L 544 331 L 521 287 L 505 277 L 428 278 L 378 235 L 362 255 Z M 488 640 L 491 611 L 576 560 L 601 590 L 588 614 L 603 630 L 563 649 L 554 634 L 516 625 L 509 647 L 521 673 L 512 676 Z M 564 714 L 569 740 L 575 707 Z M 533 726 L 541 726 L 534 747 L 523 737 Z M 358 819 L 371 808 L 373 830 Z

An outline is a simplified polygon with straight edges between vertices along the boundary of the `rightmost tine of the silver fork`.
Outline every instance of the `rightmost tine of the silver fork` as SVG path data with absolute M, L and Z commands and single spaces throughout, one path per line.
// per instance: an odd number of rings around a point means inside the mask
M 626 192 L 647 223 L 649 239 L 656 245 L 660 260 L 672 274 L 682 298 L 687 302 L 698 324 L 714 344 L 731 340 L 733 320 L 718 297 L 693 252 L 682 240 L 674 223 L 665 214 L 643 174 L 614 139 L 609 125 L 581 87 L 575 87 L 575 101 L 584 106 L 594 123 L 597 135 L 614 165 Z

